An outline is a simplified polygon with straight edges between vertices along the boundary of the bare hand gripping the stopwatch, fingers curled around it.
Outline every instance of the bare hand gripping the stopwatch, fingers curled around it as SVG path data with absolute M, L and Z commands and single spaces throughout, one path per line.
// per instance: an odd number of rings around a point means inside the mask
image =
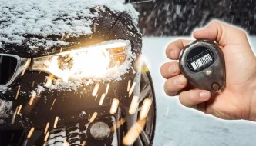
M 179 93 L 182 105 L 217 118 L 256 121 L 256 57 L 247 34 L 240 28 L 214 20 L 206 28 L 195 31 L 193 36 L 219 44 L 224 53 L 226 84 L 212 95 L 210 91 L 194 88 L 180 74 L 178 62 L 172 61 L 160 68 L 161 75 L 167 79 L 164 84 L 166 94 Z M 184 39 L 171 42 L 166 49 L 167 58 L 178 60 L 180 50 L 190 42 Z

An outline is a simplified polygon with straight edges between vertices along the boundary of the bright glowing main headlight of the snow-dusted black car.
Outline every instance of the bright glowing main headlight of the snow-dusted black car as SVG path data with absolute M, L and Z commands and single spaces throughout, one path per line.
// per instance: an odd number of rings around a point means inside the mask
M 31 71 L 45 71 L 59 78 L 101 77 L 123 64 L 131 52 L 130 41 L 113 40 L 40 58 L 33 58 Z

